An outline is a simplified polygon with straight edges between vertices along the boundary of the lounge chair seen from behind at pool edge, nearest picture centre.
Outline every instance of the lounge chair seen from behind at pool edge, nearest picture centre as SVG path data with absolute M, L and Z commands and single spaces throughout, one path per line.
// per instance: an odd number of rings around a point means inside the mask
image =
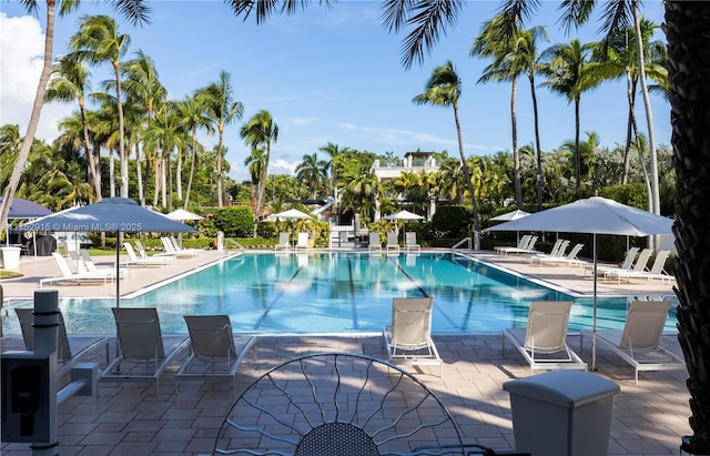
M 433 297 L 395 297 L 392 303 L 392 324 L 382 332 L 390 362 L 438 365 L 442 376 L 442 357 L 432 340 L 433 306 Z

